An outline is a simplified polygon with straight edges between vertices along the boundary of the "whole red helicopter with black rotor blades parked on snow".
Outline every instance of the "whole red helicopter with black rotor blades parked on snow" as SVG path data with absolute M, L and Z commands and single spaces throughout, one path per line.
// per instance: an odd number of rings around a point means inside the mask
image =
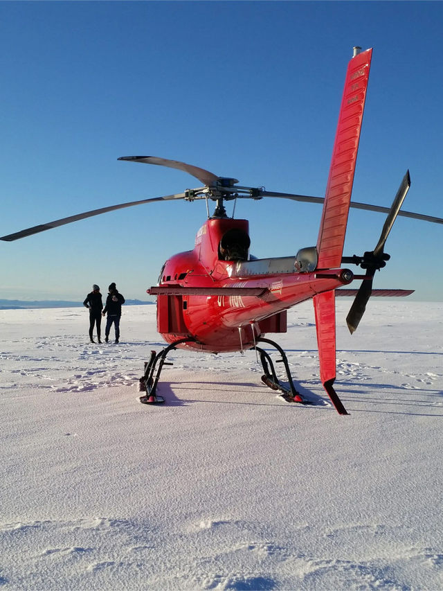
M 213 215 L 197 232 L 192 250 L 175 254 L 163 265 L 159 284 L 147 290 L 157 296 L 157 328 L 168 346 L 160 353 L 152 351 L 140 379 L 146 404 L 163 403 L 156 394 L 161 370 L 170 351 L 197 349 L 226 353 L 255 349 L 260 355 L 262 381 L 280 390 L 289 402 L 310 404 L 293 385 L 287 356 L 282 348 L 264 335 L 287 330 L 287 310 L 312 299 L 316 319 L 320 380 L 339 414 L 347 414 L 334 390 L 336 379 L 335 297 L 355 295 L 347 315 L 351 333 L 356 330 L 370 296 L 406 296 L 410 290 L 372 290 L 374 273 L 390 258 L 384 245 L 397 215 L 443 223 L 441 218 L 399 211 L 410 187 L 409 172 L 401 181 L 390 209 L 351 202 L 352 184 L 365 105 L 372 49 L 354 48 L 345 78 L 338 116 L 338 127 L 325 198 L 291 193 L 276 193 L 263 188 L 239 186 L 237 179 L 213 173 L 180 161 L 150 156 L 121 157 L 119 160 L 177 168 L 199 179 L 203 186 L 176 195 L 166 195 L 96 209 L 69 218 L 49 222 L 8 236 L 17 240 L 53 227 L 89 218 L 92 215 L 159 200 L 205 199 L 216 204 Z M 251 240 L 248 221 L 235 220 L 226 214 L 224 202 L 240 198 L 259 200 L 282 197 L 300 202 L 323 203 L 323 213 L 316 246 L 302 248 L 296 256 L 257 259 L 249 254 Z M 343 244 L 350 207 L 388 213 L 374 250 L 363 256 L 343 256 Z M 365 274 L 356 275 L 342 264 L 359 265 Z M 355 279 L 362 280 L 359 290 L 343 289 Z M 341 289 L 340 289 L 341 288 Z M 288 385 L 277 377 L 273 360 L 263 345 L 274 346 L 281 355 Z M 167 363 L 168 364 L 168 363 Z

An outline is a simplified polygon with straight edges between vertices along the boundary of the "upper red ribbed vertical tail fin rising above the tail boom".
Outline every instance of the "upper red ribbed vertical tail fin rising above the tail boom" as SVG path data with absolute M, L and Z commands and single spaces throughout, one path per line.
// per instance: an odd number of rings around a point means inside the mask
M 347 66 L 318 233 L 318 269 L 341 265 L 371 58 L 372 49 L 367 49 L 354 55 Z

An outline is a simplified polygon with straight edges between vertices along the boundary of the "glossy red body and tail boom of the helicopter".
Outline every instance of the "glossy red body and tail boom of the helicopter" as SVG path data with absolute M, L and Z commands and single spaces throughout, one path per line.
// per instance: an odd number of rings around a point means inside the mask
M 233 233 L 244 244 L 226 261 L 221 251 Z M 296 256 L 251 258 L 248 244 L 247 220 L 211 218 L 194 249 L 166 261 L 158 288 L 148 290 L 158 295 L 157 328 L 166 342 L 190 337 L 179 347 L 213 353 L 250 349 L 265 333 L 286 332 L 288 308 L 352 281 L 349 270 L 297 270 Z

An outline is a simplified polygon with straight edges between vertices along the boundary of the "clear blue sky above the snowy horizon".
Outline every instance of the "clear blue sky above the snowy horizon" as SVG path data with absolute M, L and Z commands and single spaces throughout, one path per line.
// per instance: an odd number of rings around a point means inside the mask
M 443 217 L 441 2 L 1 2 L 1 235 L 199 186 L 154 155 L 240 184 L 322 196 L 352 46 L 374 48 L 353 200 Z M 242 200 L 255 256 L 316 243 L 321 208 Z M 0 298 L 147 299 L 192 249 L 203 201 L 160 202 L 1 242 Z M 384 218 L 351 211 L 344 254 Z M 374 287 L 441 300 L 443 228 L 399 218 Z

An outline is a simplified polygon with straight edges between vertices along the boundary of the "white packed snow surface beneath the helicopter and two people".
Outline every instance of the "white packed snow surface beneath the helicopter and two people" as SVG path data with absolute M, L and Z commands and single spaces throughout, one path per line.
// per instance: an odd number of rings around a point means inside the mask
M 443 304 L 371 301 L 352 337 L 349 307 L 349 416 L 320 384 L 310 302 L 269 336 L 315 406 L 266 388 L 253 351 L 179 350 L 165 405 L 142 405 L 155 306 L 101 345 L 87 310 L 1 310 L 0 587 L 443 589 Z

